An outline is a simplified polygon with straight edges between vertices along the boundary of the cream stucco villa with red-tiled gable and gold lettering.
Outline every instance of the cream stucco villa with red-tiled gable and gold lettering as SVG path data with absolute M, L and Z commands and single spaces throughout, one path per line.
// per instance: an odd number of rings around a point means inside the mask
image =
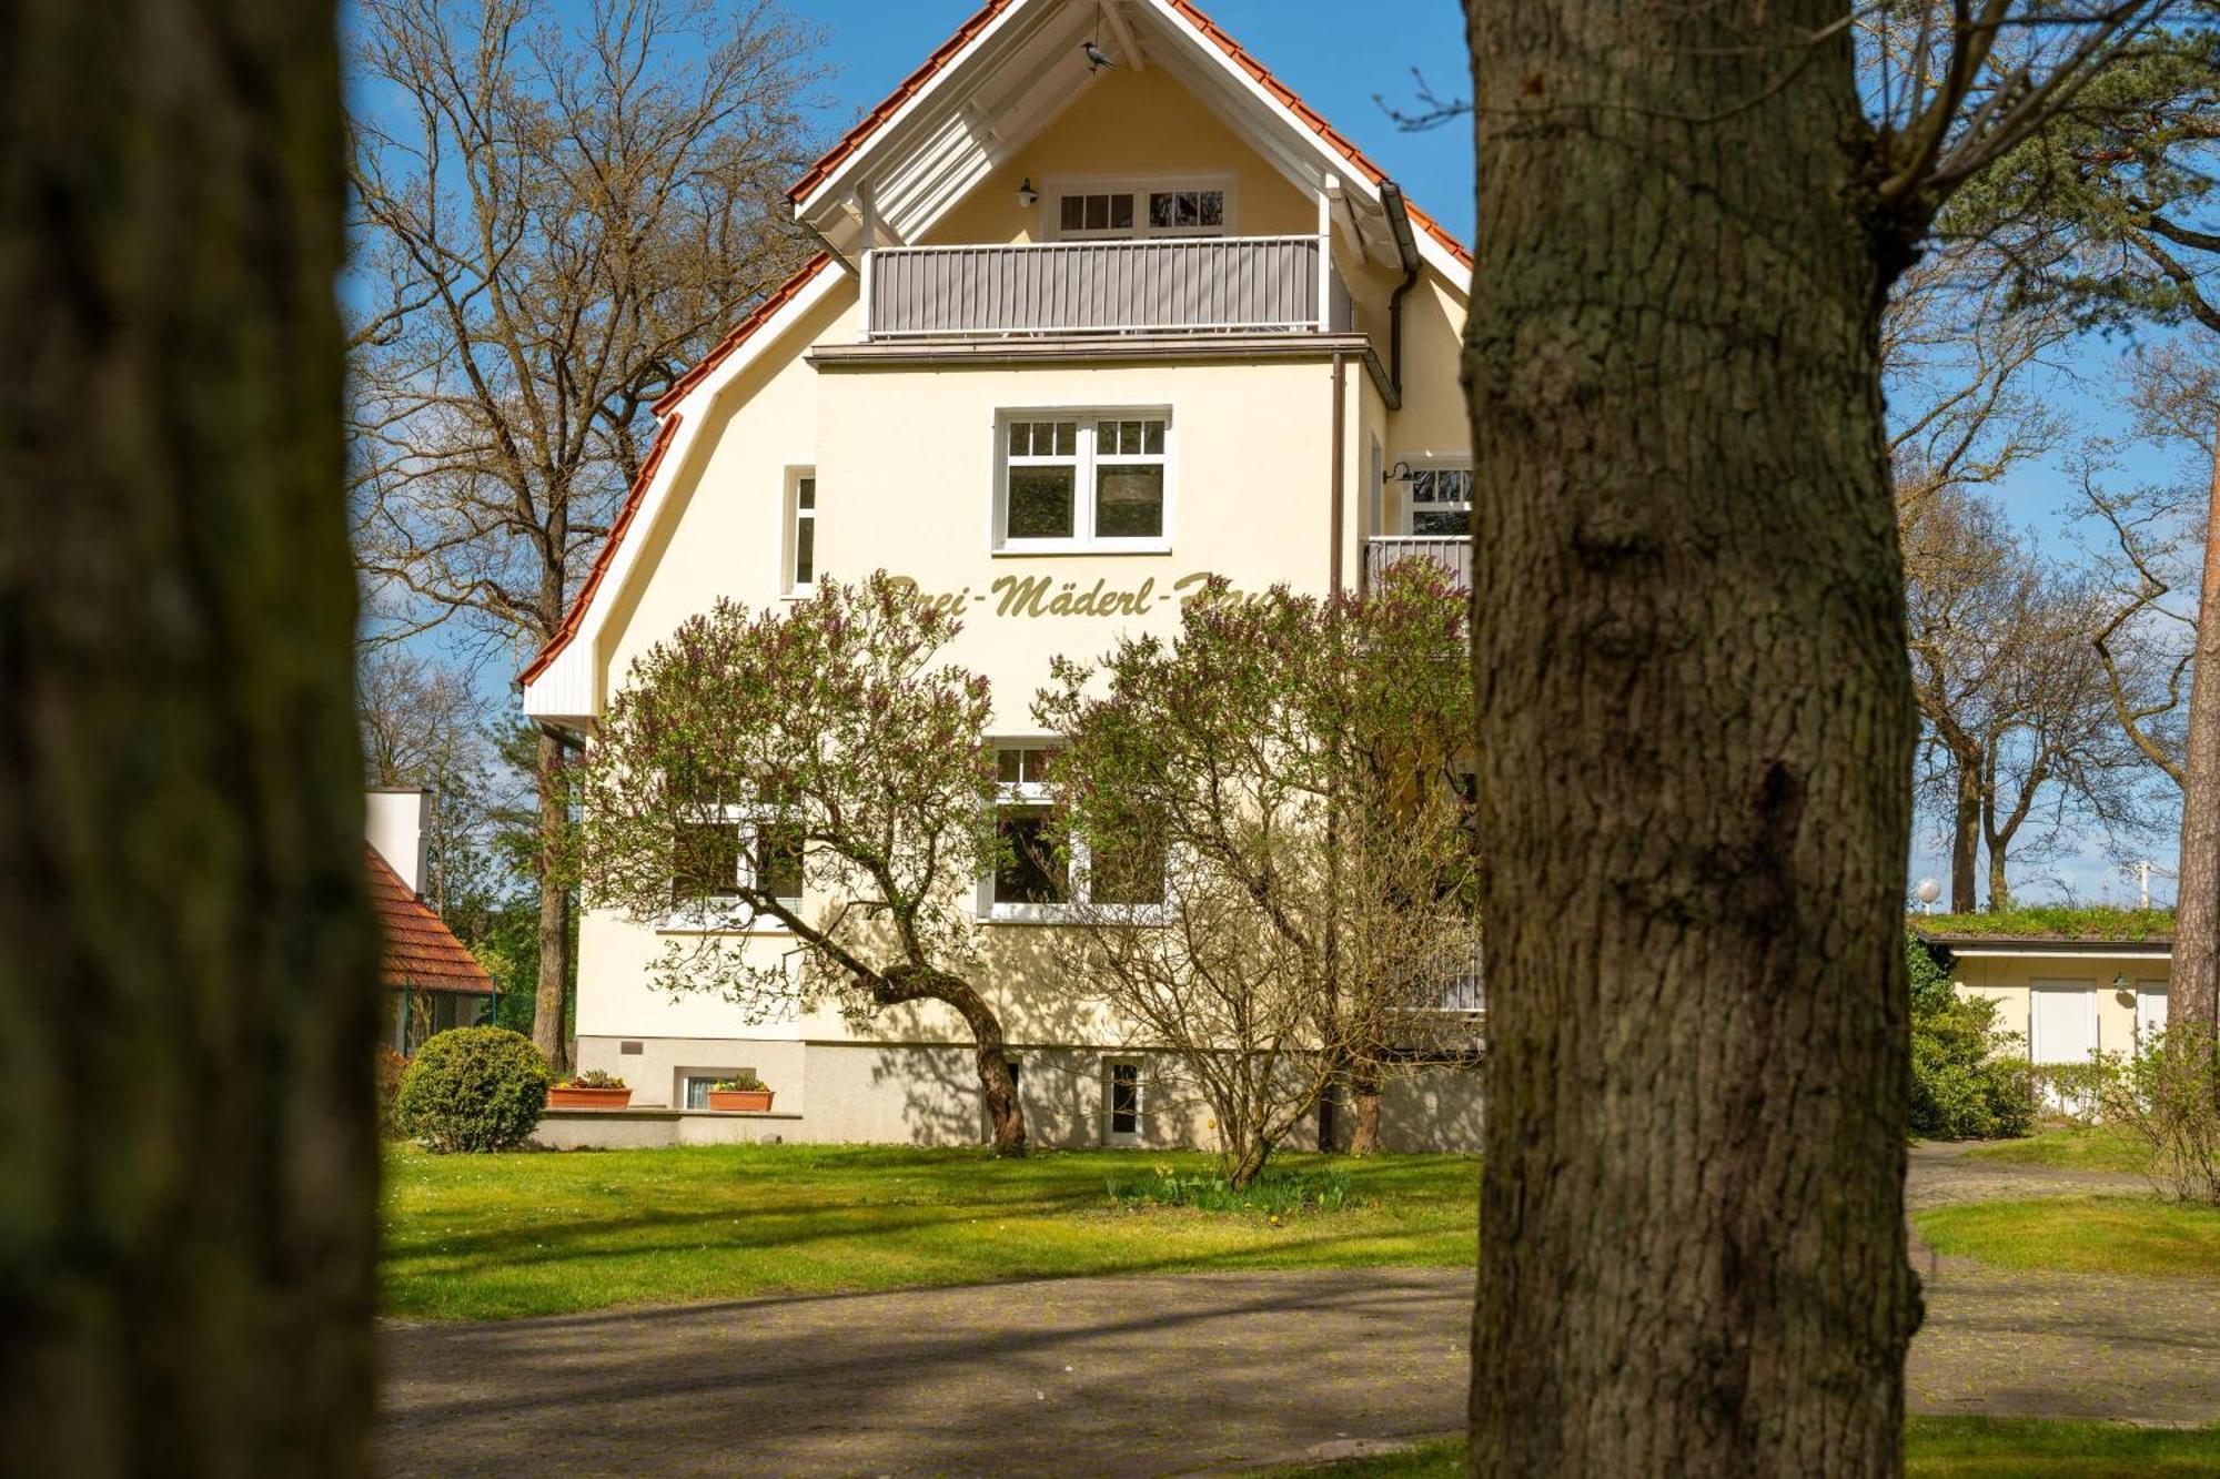
M 653 457 L 524 675 L 533 720 L 591 737 L 633 660 L 717 597 L 886 569 L 961 606 L 950 655 L 1026 751 L 1052 740 L 1028 713 L 1052 655 L 1172 631 L 1205 575 L 1328 593 L 1394 557 L 1470 569 L 1472 258 L 1188 0 L 992 0 L 790 200 L 824 253 L 657 404 Z M 983 879 L 979 928 L 1037 1144 L 1199 1135 L 1146 1044 L 1028 990 L 1035 899 Z M 639 1108 L 551 1119 L 557 1144 L 977 1139 L 952 1013 L 746 1024 L 650 990 L 657 948 L 584 919 L 579 1066 Z M 773 1115 L 699 1110 L 737 1070 Z M 1385 1106 L 1392 1148 L 1474 1135 L 1470 1073 Z

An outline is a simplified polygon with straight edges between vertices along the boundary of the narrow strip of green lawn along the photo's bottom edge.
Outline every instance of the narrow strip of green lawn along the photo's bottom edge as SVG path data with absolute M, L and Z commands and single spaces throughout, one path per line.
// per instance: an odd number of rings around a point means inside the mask
M 2211 1475 L 2220 1428 L 2129 1428 L 1989 1417 L 1914 1417 L 1907 1470 L 1920 1479 L 2111 1479 L 2113 1475 Z M 1288 1479 L 1461 1479 L 1465 1441 L 1423 1443 L 1379 1459 L 1283 1470 Z

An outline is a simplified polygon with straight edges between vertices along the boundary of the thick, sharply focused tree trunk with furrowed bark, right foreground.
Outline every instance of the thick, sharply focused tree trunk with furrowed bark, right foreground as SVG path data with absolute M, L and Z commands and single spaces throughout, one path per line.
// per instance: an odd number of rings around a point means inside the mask
M 1851 33 L 1467 18 L 1472 1468 L 1894 1475 L 1916 708 Z

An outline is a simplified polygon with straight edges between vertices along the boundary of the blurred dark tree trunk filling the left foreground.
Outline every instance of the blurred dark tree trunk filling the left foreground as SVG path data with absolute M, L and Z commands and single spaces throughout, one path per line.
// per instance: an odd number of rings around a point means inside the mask
M 335 36 L 304 0 L 0 9 L 11 1472 L 364 1472 Z

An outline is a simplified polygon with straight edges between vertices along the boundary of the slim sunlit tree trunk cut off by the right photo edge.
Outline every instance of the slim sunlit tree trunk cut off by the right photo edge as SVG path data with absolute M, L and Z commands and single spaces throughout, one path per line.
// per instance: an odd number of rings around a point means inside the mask
M 2220 449 L 2220 433 L 2216 433 Z M 2213 453 L 2198 591 L 2196 673 L 2182 753 L 2182 857 L 2173 910 L 2171 1022 L 2220 1022 L 2220 451 Z

